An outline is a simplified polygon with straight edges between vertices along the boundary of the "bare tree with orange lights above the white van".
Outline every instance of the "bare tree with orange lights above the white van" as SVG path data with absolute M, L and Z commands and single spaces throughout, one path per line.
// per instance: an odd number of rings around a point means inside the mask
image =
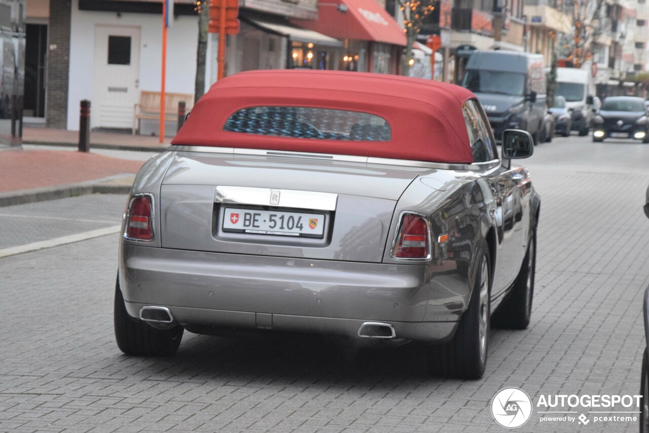
M 575 68 L 581 68 L 593 58 L 593 47 L 600 36 L 611 29 L 606 0 L 564 0 L 561 5 L 572 18 L 572 33 L 559 39 L 561 53 Z

